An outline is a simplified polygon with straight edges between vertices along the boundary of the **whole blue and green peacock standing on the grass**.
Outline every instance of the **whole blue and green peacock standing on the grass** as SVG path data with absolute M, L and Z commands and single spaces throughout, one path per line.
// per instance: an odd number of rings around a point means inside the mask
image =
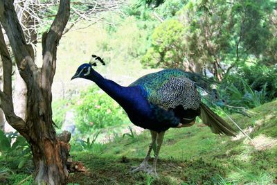
M 92 57 L 105 64 L 102 58 L 96 55 Z M 204 124 L 211 127 L 213 133 L 235 136 L 233 128 L 205 105 L 199 91 L 211 91 L 211 84 L 197 73 L 180 69 L 163 69 L 139 78 L 128 87 L 123 87 L 103 78 L 93 66 L 96 66 L 96 62 L 80 65 L 71 80 L 84 78 L 95 82 L 123 107 L 134 125 L 150 130 L 152 141 L 148 153 L 132 172 L 145 171 L 157 175 L 157 159 L 166 130 L 170 127 L 192 126 L 197 116 Z M 152 150 L 154 150 L 154 161 L 150 166 L 148 160 Z

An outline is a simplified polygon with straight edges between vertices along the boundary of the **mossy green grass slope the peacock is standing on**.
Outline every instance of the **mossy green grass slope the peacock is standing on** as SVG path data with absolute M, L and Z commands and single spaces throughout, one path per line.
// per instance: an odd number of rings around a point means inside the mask
M 255 126 L 250 134 L 277 139 L 277 101 L 253 109 L 252 118 L 233 115 L 243 128 Z M 159 178 L 143 173 L 129 174 L 129 167 L 139 165 L 150 143 L 150 134 L 116 138 L 94 152 L 73 153 L 87 173 L 71 174 L 78 184 L 268 184 L 277 183 L 277 147 L 256 150 L 247 139 L 232 141 L 212 134 L 201 124 L 166 132 L 158 162 Z

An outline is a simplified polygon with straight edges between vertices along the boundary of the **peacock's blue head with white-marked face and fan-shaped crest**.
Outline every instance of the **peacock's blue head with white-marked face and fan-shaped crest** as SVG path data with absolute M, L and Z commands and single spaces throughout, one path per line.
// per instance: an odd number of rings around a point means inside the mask
M 89 79 L 89 76 L 91 76 L 91 73 L 93 72 L 92 66 L 97 66 L 98 62 L 100 62 L 102 65 L 105 65 L 105 62 L 102 58 L 96 55 L 91 55 L 91 57 L 92 60 L 89 63 L 82 64 L 80 67 L 78 67 L 75 75 L 71 78 L 71 80 L 74 78 Z

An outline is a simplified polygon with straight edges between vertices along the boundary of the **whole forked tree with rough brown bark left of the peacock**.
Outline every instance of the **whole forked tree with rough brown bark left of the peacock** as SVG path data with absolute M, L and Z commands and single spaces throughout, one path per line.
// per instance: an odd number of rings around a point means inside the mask
M 4 88 L 0 91 L 1 108 L 6 120 L 30 143 L 35 164 L 37 184 L 66 184 L 68 171 L 66 160 L 69 156 L 69 140 L 59 139 L 55 134 L 51 109 L 51 86 L 55 75 L 57 44 L 69 19 L 69 0 L 61 0 L 57 15 L 48 33 L 44 33 L 43 66 L 34 62 L 32 46 L 26 44 L 13 2 L 0 0 L 0 21 L 6 30 L 20 76 L 26 82 L 26 121 L 15 115 L 12 106 L 10 55 L 1 39 L 0 52 L 3 60 Z M 70 133 L 67 133 L 70 135 Z M 70 138 L 70 136 L 67 136 Z

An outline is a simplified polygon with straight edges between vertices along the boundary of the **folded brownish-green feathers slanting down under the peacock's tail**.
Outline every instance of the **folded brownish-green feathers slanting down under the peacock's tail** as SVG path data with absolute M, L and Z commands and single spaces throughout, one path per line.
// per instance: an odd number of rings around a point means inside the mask
M 205 125 L 211 127 L 215 134 L 226 134 L 227 136 L 235 136 L 235 130 L 224 121 L 224 119 L 217 116 L 209 107 L 200 103 L 201 119 Z

